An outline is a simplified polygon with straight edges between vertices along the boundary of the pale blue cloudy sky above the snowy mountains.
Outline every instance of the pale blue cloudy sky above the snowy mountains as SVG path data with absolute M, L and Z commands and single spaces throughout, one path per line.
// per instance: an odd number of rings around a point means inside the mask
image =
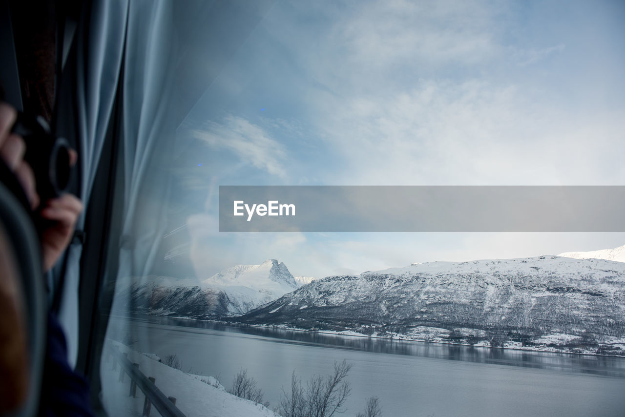
M 621 1 L 277 1 L 178 129 L 197 278 L 267 258 L 321 278 L 625 244 L 217 231 L 219 185 L 625 185 L 623 21 Z

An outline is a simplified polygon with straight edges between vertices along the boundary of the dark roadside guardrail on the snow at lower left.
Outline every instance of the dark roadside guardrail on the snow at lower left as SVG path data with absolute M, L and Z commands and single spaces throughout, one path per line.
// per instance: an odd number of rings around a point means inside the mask
M 109 355 L 113 358 L 113 368 L 115 371 L 119 364 L 119 381 L 124 382 L 124 375 L 130 377 L 130 391 L 129 396 L 136 397 L 137 387 L 143 391 L 146 399 L 143 403 L 143 416 L 149 417 L 152 404 L 154 408 L 163 417 L 186 417 L 182 411 L 176 407 L 176 398 L 168 397 L 163 394 L 163 391 L 158 389 L 154 384 L 156 379 L 152 377 L 146 377 L 141 371 L 139 371 L 138 363 L 131 363 L 128 359 L 128 353 L 121 353 L 118 346 L 109 344 Z

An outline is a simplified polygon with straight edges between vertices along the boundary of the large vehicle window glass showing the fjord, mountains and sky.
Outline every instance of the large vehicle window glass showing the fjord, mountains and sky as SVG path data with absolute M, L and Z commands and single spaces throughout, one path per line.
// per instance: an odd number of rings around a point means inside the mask
M 131 11 L 108 413 L 151 402 L 128 364 L 187 416 L 622 412 L 616 227 L 220 232 L 219 186 L 621 186 L 624 10 Z

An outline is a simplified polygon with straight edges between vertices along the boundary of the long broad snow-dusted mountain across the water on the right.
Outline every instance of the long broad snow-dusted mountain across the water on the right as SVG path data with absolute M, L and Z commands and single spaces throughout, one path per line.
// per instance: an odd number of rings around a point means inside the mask
M 491 346 L 509 341 L 582 346 L 582 351 L 622 354 L 625 264 L 539 256 L 330 276 L 236 321 Z

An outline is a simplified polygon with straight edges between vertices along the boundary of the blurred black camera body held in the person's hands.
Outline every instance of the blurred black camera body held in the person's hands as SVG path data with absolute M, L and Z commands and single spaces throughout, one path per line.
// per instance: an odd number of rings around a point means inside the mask
M 41 116 L 24 113 L 17 114 L 11 131 L 24 138 L 24 161 L 34 172 L 41 203 L 65 193 L 73 174 L 68 141 L 51 134 L 49 125 Z

